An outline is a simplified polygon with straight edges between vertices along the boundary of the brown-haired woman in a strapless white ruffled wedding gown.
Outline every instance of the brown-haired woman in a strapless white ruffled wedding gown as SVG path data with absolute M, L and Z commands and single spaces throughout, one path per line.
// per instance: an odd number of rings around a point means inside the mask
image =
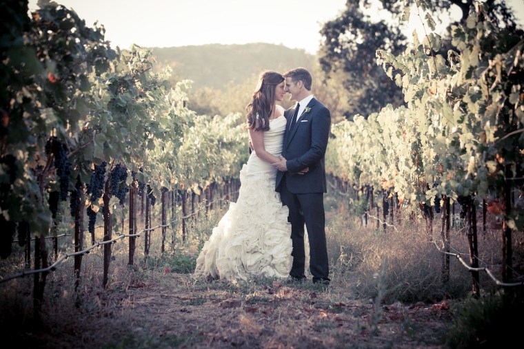
M 252 151 L 240 171 L 237 202 L 231 202 L 196 259 L 195 277 L 236 281 L 256 277 L 288 277 L 292 264 L 288 207 L 275 191 L 276 168 L 286 119 L 277 105 L 285 94 L 285 78 L 263 72 L 247 109 Z M 304 171 L 304 173 L 307 169 Z

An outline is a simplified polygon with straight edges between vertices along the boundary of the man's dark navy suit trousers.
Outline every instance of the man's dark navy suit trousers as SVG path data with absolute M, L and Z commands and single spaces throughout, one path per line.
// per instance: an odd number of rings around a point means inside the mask
M 290 275 L 303 279 L 305 268 L 304 224 L 308 229 L 310 243 L 310 273 L 313 282 L 330 281 L 328 248 L 325 242 L 325 213 L 323 193 L 291 193 L 286 183 L 287 173 L 281 182 L 280 197 L 282 204 L 288 207 L 293 244 L 293 264 Z

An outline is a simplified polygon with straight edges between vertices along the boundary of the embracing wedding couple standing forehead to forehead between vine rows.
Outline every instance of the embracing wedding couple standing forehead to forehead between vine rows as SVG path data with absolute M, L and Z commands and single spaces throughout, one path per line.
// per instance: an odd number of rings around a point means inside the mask
M 311 85 L 310 73 L 301 67 L 259 76 L 246 107 L 253 151 L 240 171 L 239 198 L 205 242 L 195 277 L 302 281 L 306 235 L 312 281 L 330 283 L 323 193 L 331 117 Z M 277 104 L 286 93 L 297 102 L 288 110 Z

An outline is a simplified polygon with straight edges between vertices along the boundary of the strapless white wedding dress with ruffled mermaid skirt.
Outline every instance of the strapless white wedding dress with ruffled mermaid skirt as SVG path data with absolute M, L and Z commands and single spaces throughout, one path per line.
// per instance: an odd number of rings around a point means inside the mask
M 283 111 L 282 111 L 283 112 Z M 264 131 L 265 150 L 281 155 L 286 120 L 270 120 Z M 292 264 L 288 207 L 275 189 L 276 168 L 253 151 L 240 171 L 239 198 L 230 202 L 199 257 L 195 277 L 250 280 L 288 277 Z

